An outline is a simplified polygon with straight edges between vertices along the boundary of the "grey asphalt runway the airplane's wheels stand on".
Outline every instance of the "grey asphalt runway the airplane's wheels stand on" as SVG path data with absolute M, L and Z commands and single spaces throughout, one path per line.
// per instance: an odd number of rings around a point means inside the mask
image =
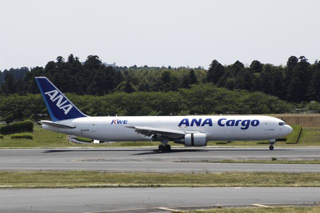
M 320 148 L 62 148 L 0 149 L 0 170 L 98 170 L 121 172 L 320 172 L 319 165 L 176 162 L 222 159 L 320 159 Z

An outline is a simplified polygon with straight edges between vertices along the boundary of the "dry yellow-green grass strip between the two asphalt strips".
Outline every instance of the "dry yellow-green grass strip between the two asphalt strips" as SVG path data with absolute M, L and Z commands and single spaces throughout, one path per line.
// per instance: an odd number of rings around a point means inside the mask
M 190 171 L 191 172 L 191 171 Z M 319 187 L 319 173 L 106 173 L 95 171 L 0 172 L 0 188 L 59 187 Z

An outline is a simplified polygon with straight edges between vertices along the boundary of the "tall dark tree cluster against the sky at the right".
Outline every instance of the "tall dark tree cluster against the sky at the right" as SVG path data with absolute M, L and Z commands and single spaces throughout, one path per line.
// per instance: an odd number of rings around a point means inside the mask
M 289 57 L 284 67 L 259 61 L 252 61 L 249 67 L 239 61 L 222 66 L 213 60 L 206 80 L 219 87 L 260 91 L 294 103 L 320 101 L 320 63 L 310 64 L 304 56 Z

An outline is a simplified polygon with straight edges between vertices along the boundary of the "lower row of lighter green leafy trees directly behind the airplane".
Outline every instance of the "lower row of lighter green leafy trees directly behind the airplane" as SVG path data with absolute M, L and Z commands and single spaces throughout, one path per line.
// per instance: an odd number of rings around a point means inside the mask
M 115 92 L 103 96 L 66 96 L 89 116 L 196 114 L 261 114 L 291 112 L 293 105 L 262 92 L 227 90 L 212 84 L 193 84 L 169 92 Z M 49 119 L 40 94 L 0 96 L 0 120 Z

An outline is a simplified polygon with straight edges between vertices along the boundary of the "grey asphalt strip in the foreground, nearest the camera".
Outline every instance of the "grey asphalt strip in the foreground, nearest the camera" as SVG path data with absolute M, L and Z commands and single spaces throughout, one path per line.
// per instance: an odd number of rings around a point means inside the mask
M 0 212 L 154 212 L 216 205 L 319 203 L 320 188 L 2 189 Z M 184 206 L 184 207 L 183 207 Z M 185 207 L 187 206 L 187 207 Z M 143 209 L 141 209 L 143 208 Z

